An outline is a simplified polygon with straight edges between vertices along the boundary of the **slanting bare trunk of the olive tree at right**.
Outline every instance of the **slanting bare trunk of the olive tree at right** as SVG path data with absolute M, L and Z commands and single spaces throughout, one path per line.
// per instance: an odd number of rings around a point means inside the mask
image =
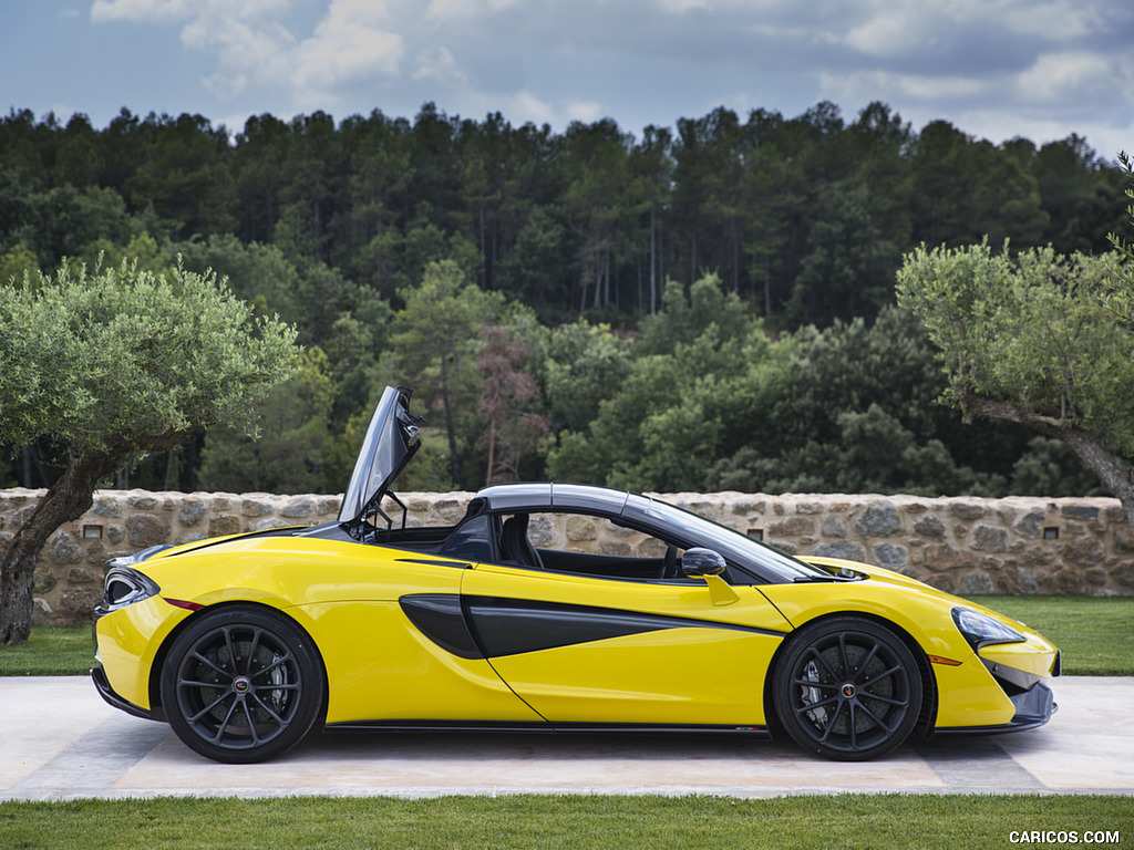
M 1102 486 L 1122 502 L 1126 522 L 1134 529 L 1134 466 L 1110 451 L 1098 434 L 1005 401 L 980 398 L 963 386 L 955 386 L 954 390 L 963 399 L 966 422 L 973 418 L 1015 422 L 1066 443 L 1083 465 L 1098 476 Z

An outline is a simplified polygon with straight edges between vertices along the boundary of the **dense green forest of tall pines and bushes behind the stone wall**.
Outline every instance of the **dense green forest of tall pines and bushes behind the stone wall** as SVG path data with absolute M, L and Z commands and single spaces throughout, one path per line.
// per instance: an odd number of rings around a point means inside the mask
M 1085 495 L 1060 443 L 939 401 L 895 275 L 921 245 L 1103 254 L 1124 187 L 1078 136 L 993 145 L 883 103 L 719 108 L 640 137 L 433 104 L 239 130 L 11 110 L 0 278 L 64 257 L 212 270 L 297 329 L 259 439 L 211 431 L 107 486 L 341 492 L 400 383 L 429 423 L 403 490 Z M 46 486 L 65 449 L 3 443 L 0 486 Z

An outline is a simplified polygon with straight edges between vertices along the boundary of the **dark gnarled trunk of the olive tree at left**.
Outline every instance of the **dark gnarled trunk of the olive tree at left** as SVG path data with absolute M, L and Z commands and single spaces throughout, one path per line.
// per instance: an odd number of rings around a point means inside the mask
M 24 644 L 32 630 L 35 562 L 48 538 L 64 522 L 78 519 L 94 502 L 99 482 L 117 469 L 122 454 L 71 458 L 32 516 L 16 530 L 0 556 L 0 644 Z

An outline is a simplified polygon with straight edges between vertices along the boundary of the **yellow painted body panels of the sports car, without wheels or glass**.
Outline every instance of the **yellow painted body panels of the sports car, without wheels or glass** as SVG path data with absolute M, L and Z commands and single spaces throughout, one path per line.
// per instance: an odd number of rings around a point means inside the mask
M 818 559 L 816 559 L 818 561 Z M 413 552 L 287 535 L 171 550 L 139 564 L 161 593 L 98 622 L 112 689 L 151 709 L 154 672 L 179 626 L 210 610 L 257 604 L 290 617 L 314 640 L 327 672 L 327 722 L 725 724 L 762 726 L 764 681 L 794 629 L 848 613 L 891 623 L 931 663 L 937 726 L 996 726 L 1014 706 L 953 622 L 970 605 L 904 576 L 823 561 L 866 576 L 854 583 L 711 588 L 624 581 L 422 558 Z M 426 637 L 404 613 L 407 594 L 446 594 L 680 618 L 671 628 L 465 658 Z M 735 598 L 734 598 L 735 597 Z M 979 609 L 984 611 L 984 609 Z M 1056 651 L 1035 632 L 981 656 L 1048 675 Z

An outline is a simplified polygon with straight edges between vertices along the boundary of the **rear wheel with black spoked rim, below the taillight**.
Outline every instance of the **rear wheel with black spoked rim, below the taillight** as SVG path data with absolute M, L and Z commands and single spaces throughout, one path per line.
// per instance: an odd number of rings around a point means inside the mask
M 263 762 L 298 743 L 323 699 L 313 643 L 271 609 L 204 614 L 170 647 L 161 702 L 191 749 L 227 764 Z

